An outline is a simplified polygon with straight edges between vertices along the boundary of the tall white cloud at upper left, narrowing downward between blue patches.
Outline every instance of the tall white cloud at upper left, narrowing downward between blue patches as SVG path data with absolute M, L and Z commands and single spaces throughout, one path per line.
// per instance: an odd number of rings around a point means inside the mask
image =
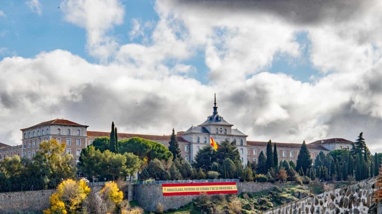
M 61 3 L 65 20 L 87 31 L 87 49 L 106 62 L 119 44 L 108 31 L 123 23 L 125 14 L 120 0 L 65 0 Z

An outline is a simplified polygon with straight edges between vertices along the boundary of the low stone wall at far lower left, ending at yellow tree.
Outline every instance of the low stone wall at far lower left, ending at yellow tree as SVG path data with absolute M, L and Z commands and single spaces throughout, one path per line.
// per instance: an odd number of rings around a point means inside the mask
M 49 196 L 54 189 L 0 193 L 0 213 L 36 212 L 49 207 Z

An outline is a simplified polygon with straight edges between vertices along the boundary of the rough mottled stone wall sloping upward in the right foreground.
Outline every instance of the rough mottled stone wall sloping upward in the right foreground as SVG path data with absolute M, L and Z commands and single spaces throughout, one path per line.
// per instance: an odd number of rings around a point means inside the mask
M 327 191 L 283 206 L 263 214 L 359 214 L 368 213 L 372 205 L 376 178 L 369 178 L 353 185 Z

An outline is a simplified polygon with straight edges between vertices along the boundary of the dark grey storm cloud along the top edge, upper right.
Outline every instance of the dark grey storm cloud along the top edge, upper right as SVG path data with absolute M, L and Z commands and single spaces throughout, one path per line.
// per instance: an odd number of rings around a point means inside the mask
M 296 24 L 341 22 L 367 9 L 372 0 L 175 0 L 180 5 L 240 13 L 271 13 Z

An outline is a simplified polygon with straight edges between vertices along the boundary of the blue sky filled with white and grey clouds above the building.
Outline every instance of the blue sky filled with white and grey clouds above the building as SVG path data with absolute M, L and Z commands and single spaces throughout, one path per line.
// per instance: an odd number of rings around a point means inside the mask
M 382 152 L 377 0 L 0 2 L 0 142 L 51 118 L 170 134 L 219 114 L 248 140 Z

